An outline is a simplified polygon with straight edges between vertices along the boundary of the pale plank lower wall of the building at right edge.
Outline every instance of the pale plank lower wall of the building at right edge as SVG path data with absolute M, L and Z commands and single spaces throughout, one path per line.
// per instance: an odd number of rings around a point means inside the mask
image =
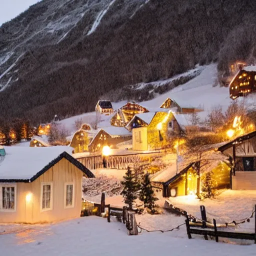
M 256 171 L 236 171 L 232 176 L 233 190 L 255 190 Z

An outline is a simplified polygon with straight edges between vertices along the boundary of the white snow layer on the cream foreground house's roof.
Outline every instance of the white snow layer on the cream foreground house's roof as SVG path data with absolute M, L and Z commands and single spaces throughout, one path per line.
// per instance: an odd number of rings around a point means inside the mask
M 0 180 L 31 180 L 52 160 L 60 155 L 71 157 L 71 147 L 5 146 L 6 155 L 0 162 Z M 63 152 L 65 152 L 63 154 Z M 65 157 L 65 158 L 66 158 Z M 72 159 L 71 157 L 70 159 Z

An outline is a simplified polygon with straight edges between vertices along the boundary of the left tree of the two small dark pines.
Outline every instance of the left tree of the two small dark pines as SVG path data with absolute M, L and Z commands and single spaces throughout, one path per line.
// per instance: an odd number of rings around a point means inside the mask
M 125 176 L 123 177 L 124 180 L 121 181 L 121 184 L 124 186 L 121 192 L 122 196 L 124 197 L 124 202 L 128 204 L 128 208 L 132 209 L 132 203 L 137 198 L 136 195 L 136 182 L 134 180 L 134 174 L 132 173 L 130 167 L 128 167 Z

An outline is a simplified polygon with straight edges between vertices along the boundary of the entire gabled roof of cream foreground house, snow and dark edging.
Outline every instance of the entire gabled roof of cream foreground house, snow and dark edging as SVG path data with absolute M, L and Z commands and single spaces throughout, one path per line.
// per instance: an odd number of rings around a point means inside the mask
M 90 170 L 62 148 L 6 146 L 6 155 L 0 162 L 0 182 L 31 182 L 62 158 L 79 168 L 87 177 L 94 177 Z

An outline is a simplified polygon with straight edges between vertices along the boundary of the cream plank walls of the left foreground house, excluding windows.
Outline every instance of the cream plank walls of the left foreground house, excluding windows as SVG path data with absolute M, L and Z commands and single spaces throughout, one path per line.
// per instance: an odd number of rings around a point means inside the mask
M 17 170 L 18 171 L 18 170 Z M 52 222 L 80 216 L 82 172 L 66 159 L 44 172 L 31 183 L 18 182 L 16 190 L 16 211 L 0 211 L 0 222 Z M 40 211 L 41 182 L 53 182 L 52 209 Z M 64 183 L 74 182 L 74 207 L 64 208 Z M 32 193 L 30 202 L 26 202 L 27 193 Z

